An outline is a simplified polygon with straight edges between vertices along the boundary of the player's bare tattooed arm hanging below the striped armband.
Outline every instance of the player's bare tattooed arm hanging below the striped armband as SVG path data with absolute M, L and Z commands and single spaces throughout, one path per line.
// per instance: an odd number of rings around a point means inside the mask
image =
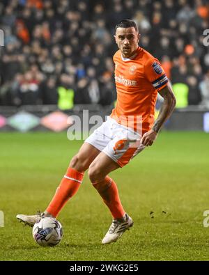
M 144 146 L 151 146 L 153 144 L 157 138 L 157 133 L 160 131 L 162 125 L 164 125 L 169 116 L 171 116 L 171 113 L 176 106 L 176 97 L 173 94 L 173 90 L 169 82 L 167 86 L 158 91 L 158 93 L 160 93 L 160 95 L 164 98 L 164 102 L 162 103 L 160 113 L 157 120 L 155 120 L 153 128 L 142 136 L 141 144 Z

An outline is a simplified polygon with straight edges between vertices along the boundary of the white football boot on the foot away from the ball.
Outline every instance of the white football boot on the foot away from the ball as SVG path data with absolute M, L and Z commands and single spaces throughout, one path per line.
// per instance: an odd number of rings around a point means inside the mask
M 107 234 L 102 239 L 102 244 L 110 244 L 111 242 L 116 242 L 119 237 L 123 235 L 125 230 L 129 230 L 132 227 L 134 222 L 132 218 L 125 214 L 123 219 L 114 219 L 111 223 Z

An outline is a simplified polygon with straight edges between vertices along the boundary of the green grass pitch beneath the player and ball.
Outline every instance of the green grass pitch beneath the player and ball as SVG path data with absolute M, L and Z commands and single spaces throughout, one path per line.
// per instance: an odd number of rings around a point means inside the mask
M 209 260 L 209 134 L 201 132 L 162 132 L 111 173 L 134 220 L 118 242 L 101 244 L 111 215 L 85 175 L 59 215 L 61 243 L 38 246 L 15 216 L 45 210 L 81 145 L 64 133 L 0 134 L 0 260 Z

